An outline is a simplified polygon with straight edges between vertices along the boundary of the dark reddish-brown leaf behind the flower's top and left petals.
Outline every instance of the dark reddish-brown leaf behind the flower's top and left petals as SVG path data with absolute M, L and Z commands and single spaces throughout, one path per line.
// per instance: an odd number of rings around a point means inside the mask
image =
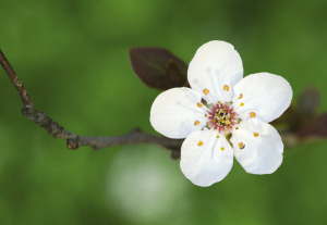
M 160 90 L 187 85 L 187 64 L 170 51 L 133 48 L 129 54 L 134 73 L 145 85 Z

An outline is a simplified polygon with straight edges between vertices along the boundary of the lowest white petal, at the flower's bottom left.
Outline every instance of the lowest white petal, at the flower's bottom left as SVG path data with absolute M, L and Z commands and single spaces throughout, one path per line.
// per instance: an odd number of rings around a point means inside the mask
M 181 170 L 195 185 L 206 187 L 220 182 L 232 167 L 233 150 L 223 135 L 217 135 L 213 129 L 193 132 L 182 145 Z

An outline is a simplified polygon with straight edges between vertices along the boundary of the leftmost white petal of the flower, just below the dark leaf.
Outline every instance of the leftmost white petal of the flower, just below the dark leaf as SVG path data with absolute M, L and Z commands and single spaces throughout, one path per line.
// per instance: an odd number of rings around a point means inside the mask
M 172 88 L 160 93 L 153 103 L 150 123 L 169 138 L 185 138 L 205 126 L 204 107 L 198 108 L 201 93 L 190 88 Z M 201 124 L 194 125 L 195 121 Z

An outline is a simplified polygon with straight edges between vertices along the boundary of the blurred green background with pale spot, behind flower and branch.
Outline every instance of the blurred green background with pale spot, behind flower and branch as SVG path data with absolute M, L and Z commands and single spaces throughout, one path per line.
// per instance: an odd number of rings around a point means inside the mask
M 327 110 L 327 2 L 183 0 L 1 1 L 0 48 L 36 109 L 80 135 L 149 124 L 159 93 L 133 74 L 128 50 L 164 47 L 185 62 L 209 40 L 240 52 L 245 75 L 282 75 L 294 100 L 308 86 Z M 234 161 L 208 188 L 169 151 L 65 148 L 24 117 L 0 68 L 0 224 L 327 224 L 327 142 L 286 149 L 272 175 Z

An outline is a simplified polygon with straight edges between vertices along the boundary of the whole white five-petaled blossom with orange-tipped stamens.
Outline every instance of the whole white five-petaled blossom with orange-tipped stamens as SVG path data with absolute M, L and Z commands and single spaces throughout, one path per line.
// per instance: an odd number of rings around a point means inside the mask
M 225 178 L 233 155 L 252 174 L 270 174 L 281 164 L 283 143 L 268 123 L 289 108 L 292 88 L 269 73 L 242 77 L 242 60 L 233 46 L 214 40 L 203 45 L 190 63 L 192 89 L 169 89 L 152 107 L 150 123 L 157 132 L 185 138 L 180 166 L 195 185 L 210 186 Z M 230 133 L 232 146 L 226 139 Z

